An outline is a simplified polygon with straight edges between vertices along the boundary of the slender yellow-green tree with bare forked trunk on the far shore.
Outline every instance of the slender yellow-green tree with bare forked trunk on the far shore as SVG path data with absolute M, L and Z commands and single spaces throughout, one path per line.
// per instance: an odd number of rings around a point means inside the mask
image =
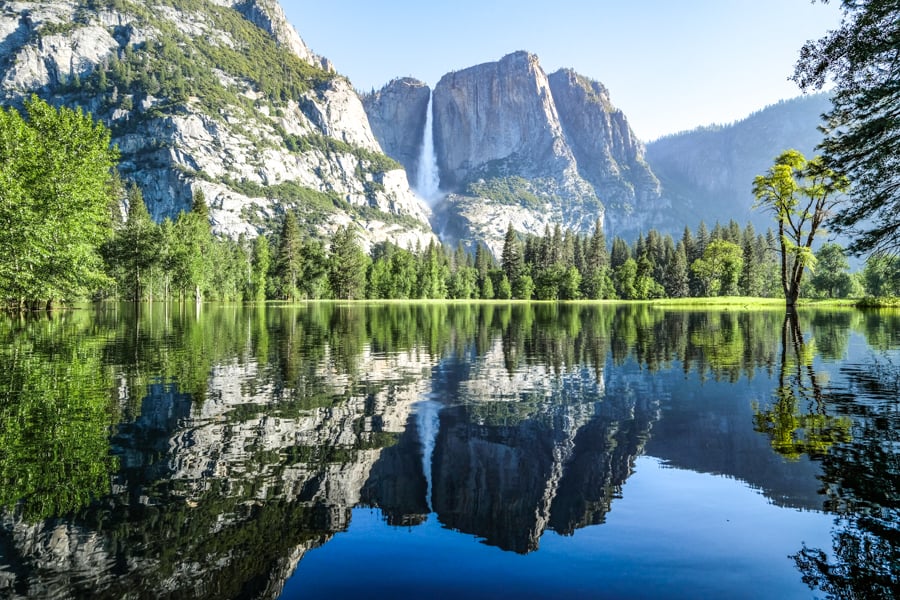
M 803 273 L 814 260 L 816 233 L 848 187 L 847 178 L 820 157 L 807 161 L 797 150 L 782 152 L 753 180 L 755 207 L 770 210 L 778 226 L 781 286 L 789 309 L 796 306 Z

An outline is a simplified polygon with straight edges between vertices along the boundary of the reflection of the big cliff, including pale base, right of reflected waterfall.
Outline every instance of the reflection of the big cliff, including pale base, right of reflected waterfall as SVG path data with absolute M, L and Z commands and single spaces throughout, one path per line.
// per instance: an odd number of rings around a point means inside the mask
M 434 509 L 453 529 L 528 552 L 547 529 L 603 522 L 657 401 L 624 383 L 607 389 L 602 372 L 578 364 L 507 375 L 502 343 L 466 367 L 458 402 L 441 412 Z

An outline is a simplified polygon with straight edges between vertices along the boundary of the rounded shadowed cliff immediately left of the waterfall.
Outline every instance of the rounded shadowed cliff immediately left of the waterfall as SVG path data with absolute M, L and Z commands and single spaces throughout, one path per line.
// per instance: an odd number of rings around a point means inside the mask
M 362 99 L 375 137 L 388 156 L 406 167 L 410 181 L 418 180 L 430 98 L 431 89 L 424 82 L 404 77 Z

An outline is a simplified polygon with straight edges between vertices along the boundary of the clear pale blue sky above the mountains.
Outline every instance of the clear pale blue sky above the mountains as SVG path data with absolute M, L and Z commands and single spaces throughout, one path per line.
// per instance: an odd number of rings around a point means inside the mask
M 840 23 L 810 0 L 281 0 L 358 89 L 440 77 L 516 50 L 604 83 L 642 140 L 730 123 L 800 94 L 800 47 Z

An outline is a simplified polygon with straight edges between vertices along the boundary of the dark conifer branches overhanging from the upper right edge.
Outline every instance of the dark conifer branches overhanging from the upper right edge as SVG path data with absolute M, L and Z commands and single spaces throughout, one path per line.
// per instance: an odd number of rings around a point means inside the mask
M 823 0 L 827 1 L 827 0 Z M 804 90 L 834 80 L 825 117 L 825 164 L 853 182 L 836 229 L 848 250 L 900 250 L 900 2 L 841 0 L 841 26 L 800 51 L 793 79 Z

